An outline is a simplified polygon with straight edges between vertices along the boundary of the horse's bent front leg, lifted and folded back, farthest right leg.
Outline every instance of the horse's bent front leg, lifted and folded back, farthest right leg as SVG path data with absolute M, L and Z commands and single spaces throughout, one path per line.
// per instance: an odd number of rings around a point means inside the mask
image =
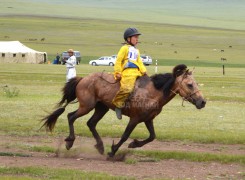
M 156 134 L 155 134 L 155 130 L 154 130 L 154 126 L 153 126 L 153 120 L 150 120 L 150 121 L 146 121 L 145 122 L 145 125 L 150 133 L 150 136 L 149 138 L 143 140 L 143 141 L 138 141 L 137 139 L 134 139 L 133 142 L 131 142 L 128 147 L 129 148 L 137 148 L 137 147 L 142 147 L 144 146 L 145 144 L 153 141 L 156 137 Z

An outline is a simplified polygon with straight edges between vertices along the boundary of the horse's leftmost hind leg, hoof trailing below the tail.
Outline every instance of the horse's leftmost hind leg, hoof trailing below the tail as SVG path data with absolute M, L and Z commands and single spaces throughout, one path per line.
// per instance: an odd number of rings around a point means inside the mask
M 76 111 L 73 111 L 71 113 L 69 113 L 67 115 L 68 117 L 68 124 L 69 124 L 69 136 L 65 139 L 66 141 L 66 149 L 69 150 L 72 146 L 73 146 L 73 143 L 75 141 L 75 132 L 74 132 L 74 122 L 77 118 L 87 114 L 91 109 L 87 109 L 87 108 L 81 108 L 79 107 L 78 110 Z

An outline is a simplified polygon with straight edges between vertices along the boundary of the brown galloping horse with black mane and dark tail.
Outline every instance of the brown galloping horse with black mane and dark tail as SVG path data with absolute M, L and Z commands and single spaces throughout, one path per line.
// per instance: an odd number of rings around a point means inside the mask
M 52 131 L 66 106 L 77 100 L 78 109 L 67 115 L 69 136 L 65 139 L 66 149 L 69 150 L 75 140 L 74 121 L 95 109 L 94 114 L 87 121 L 87 126 L 96 140 L 95 148 L 100 154 L 104 154 L 103 141 L 96 130 L 96 125 L 109 109 L 115 110 L 112 100 L 119 88 L 120 83 L 115 81 L 113 74 L 109 73 L 97 72 L 83 78 L 72 78 L 62 89 L 63 97 L 57 104 L 57 110 L 42 119 L 44 121 L 42 127 L 46 127 L 47 131 Z M 153 141 L 156 137 L 153 119 L 162 111 L 163 106 L 177 94 L 183 98 L 183 102 L 189 101 L 197 109 L 205 107 L 206 100 L 198 88 L 193 73 L 184 64 L 175 66 L 172 73 L 139 77 L 135 83 L 134 91 L 129 95 L 122 109 L 122 114 L 129 117 L 129 122 L 119 142 L 114 144 L 113 141 L 108 156 L 115 155 L 139 123 L 145 123 L 150 135 L 142 141 L 134 139 L 128 148 L 142 147 Z

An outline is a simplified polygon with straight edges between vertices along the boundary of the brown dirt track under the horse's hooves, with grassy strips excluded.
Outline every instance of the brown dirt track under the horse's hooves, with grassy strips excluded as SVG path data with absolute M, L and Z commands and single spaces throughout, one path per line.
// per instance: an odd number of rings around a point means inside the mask
M 106 155 L 100 155 L 93 147 L 94 139 L 77 137 L 74 147 L 65 150 L 64 137 L 15 137 L 0 136 L 0 152 L 18 152 L 31 157 L 0 156 L 0 166 L 7 167 L 49 167 L 77 169 L 83 171 L 105 172 L 111 175 L 130 176 L 136 179 L 171 178 L 171 179 L 243 179 L 244 166 L 240 164 L 220 164 L 217 162 L 198 163 L 177 160 L 162 160 L 159 162 L 137 162 L 127 164 L 123 161 L 108 161 Z M 112 143 L 111 138 L 103 138 L 107 148 Z M 114 139 L 115 142 L 118 139 Z M 121 149 L 127 149 L 128 140 Z M 28 147 L 48 146 L 57 148 L 57 153 L 30 152 Z M 140 148 L 142 150 L 158 151 L 190 151 L 201 153 L 218 153 L 244 155 L 244 145 L 198 144 L 183 142 L 154 141 Z M 133 158 L 128 157 L 127 158 Z

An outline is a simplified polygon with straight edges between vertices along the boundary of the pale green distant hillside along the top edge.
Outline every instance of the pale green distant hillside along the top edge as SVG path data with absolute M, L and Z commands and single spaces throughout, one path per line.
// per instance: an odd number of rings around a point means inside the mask
M 243 0 L 2 0 L 1 15 L 40 15 L 245 30 Z

